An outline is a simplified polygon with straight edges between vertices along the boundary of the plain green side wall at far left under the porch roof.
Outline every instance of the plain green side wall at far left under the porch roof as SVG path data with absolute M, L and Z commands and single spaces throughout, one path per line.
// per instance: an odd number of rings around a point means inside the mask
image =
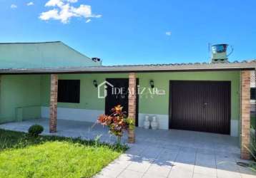
M 1 75 L 0 123 L 41 116 L 40 75 Z

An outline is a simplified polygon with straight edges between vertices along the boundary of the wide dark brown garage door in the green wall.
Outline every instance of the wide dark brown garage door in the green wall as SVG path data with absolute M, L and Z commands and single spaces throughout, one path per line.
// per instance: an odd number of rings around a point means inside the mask
M 170 81 L 169 127 L 230 134 L 230 82 Z

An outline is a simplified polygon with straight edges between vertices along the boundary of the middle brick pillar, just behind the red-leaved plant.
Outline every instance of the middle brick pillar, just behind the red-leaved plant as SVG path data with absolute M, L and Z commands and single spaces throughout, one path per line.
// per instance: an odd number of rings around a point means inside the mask
M 129 73 L 129 117 L 134 119 L 136 117 L 136 75 L 135 73 Z M 128 142 L 135 142 L 135 131 L 129 130 L 128 132 Z

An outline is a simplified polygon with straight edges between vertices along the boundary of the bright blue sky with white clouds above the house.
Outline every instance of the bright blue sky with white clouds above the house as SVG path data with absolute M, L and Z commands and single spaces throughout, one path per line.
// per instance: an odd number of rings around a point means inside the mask
M 208 43 L 232 45 L 230 61 L 252 59 L 255 9 L 255 0 L 0 0 L 0 41 L 63 41 L 104 65 L 209 61 Z

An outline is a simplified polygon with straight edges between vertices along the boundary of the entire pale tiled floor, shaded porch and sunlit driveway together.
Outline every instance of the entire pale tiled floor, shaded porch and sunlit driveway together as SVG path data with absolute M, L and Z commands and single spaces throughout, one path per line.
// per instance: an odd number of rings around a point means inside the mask
M 94 139 L 115 142 L 107 127 L 92 122 L 58 120 L 57 130 L 49 134 L 49 120 L 26 120 L 0 125 L 6 130 L 26 132 L 33 124 L 43 125 L 44 135 Z M 240 159 L 237 137 L 184 130 L 144 130 L 136 128 L 136 143 L 96 177 L 256 177 L 236 162 Z M 123 142 L 127 142 L 124 135 Z

